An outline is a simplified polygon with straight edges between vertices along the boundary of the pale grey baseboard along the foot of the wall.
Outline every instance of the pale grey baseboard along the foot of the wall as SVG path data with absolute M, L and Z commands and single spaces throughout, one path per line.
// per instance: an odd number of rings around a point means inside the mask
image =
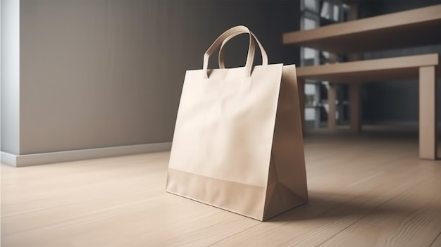
M 89 160 L 92 158 L 106 158 L 112 156 L 127 156 L 137 153 L 153 153 L 169 151 L 171 142 L 157 144 L 140 144 L 130 146 L 114 146 L 110 148 L 90 148 L 73 151 L 60 151 L 51 153 L 34 153 L 25 155 L 15 155 L 1 152 L 1 163 L 15 167 L 28 165 L 42 165 L 49 163 L 61 163 L 75 160 Z

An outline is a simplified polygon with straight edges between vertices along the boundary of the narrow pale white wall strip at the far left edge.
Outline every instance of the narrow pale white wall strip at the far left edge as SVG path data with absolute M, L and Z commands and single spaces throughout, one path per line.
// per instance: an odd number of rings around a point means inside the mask
M 1 0 L 1 150 L 20 153 L 20 2 Z

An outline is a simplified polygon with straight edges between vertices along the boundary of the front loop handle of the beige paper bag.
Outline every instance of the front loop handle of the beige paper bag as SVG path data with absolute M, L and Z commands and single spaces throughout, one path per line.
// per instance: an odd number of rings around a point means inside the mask
M 221 36 L 219 36 L 214 42 L 213 44 L 211 44 L 211 46 L 209 47 L 209 49 L 206 50 L 206 52 L 204 53 L 204 66 L 202 67 L 202 70 L 204 71 L 204 77 L 208 78 L 209 74 L 208 74 L 208 68 L 209 68 L 209 58 L 210 56 L 214 53 L 214 51 L 216 51 L 216 49 L 218 48 L 219 45 L 226 43 L 225 39 L 227 39 L 227 41 L 229 40 L 228 38 L 232 35 L 232 37 L 235 37 L 237 32 L 242 33 L 247 33 L 249 34 L 249 46 L 248 46 L 248 55 L 247 55 L 247 61 L 245 63 L 245 71 L 246 71 L 246 76 L 247 77 L 251 77 L 251 69 L 253 67 L 253 61 L 254 61 L 254 55 L 256 53 L 256 44 L 254 44 L 254 40 L 253 40 L 253 34 L 251 34 L 251 31 L 249 31 L 249 29 L 245 26 L 236 26 L 236 27 L 231 27 L 229 30 L 226 30 L 225 32 L 223 32 L 223 34 L 221 34 Z M 231 38 L 230 38 L 231 39 Z

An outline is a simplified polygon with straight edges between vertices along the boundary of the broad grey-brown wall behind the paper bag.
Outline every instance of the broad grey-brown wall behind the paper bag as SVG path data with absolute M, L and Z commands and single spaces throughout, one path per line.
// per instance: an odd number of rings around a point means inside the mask
M 185 70 L 233 25 L 271 63 L 297 62 L 281 38 L 298 1 L 21 0 L 20 154 L 171 141 Z M 233 39 L 227 65 L 246 47 Z

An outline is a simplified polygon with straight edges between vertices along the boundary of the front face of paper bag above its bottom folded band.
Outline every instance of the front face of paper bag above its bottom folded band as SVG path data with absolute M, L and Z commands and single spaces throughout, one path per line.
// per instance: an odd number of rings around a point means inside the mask
M 204 177 L 265 187 L 282 64 L 190 70 L 175 125 L 169 167 Z

